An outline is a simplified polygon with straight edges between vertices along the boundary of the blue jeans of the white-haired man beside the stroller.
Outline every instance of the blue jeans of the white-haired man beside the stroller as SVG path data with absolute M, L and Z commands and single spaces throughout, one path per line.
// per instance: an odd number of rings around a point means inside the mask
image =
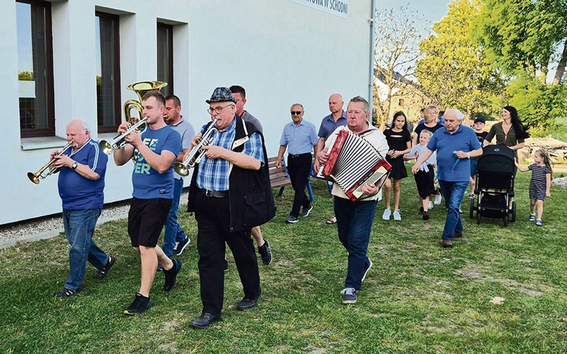
M 447 219 L 441 238 L 453 239 L 455 232 L 463 232 L 463 220 L 461 220 L 459 207 L 463 201 L 464 193 L 467 191 L 467 182 L 447 182 L 439 181 L 441 193 L 445 197 L 445 207 L 447 208 Z

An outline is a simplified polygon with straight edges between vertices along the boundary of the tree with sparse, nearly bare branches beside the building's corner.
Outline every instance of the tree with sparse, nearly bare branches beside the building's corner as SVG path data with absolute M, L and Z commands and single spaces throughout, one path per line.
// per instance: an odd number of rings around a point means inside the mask
M 376 11 L 373 107 L 375 126 L 383 126 L 388 120 L 392 101 L 396 97 L 403 97 L 408 85 L 415 84 L 415 62 L 420 57 L 417 44 L 424 33 L 423 29 L 415 27 L 417 20 L 417 12 L 409 10 L 408 5 L 396 11 Z

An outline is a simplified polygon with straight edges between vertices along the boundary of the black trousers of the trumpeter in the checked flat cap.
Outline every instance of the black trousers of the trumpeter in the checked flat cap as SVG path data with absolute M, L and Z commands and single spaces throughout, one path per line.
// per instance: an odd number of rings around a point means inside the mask
M 220 314 L 225 295 L 225 242 L 232 251 L 244 296 L 248 298 L 260 295 L 256 252 L 250 229 L 230 232 L 229 197 L 206 197 L 197 192 L 195 198 L 203 313 Z

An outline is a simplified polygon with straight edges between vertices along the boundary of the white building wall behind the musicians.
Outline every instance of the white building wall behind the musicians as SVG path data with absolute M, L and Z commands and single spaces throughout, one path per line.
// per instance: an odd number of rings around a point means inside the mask
M 328 96 L 367 97 L 371 1 L 350 1 L 349 18 L 279 1 L 68 0 L 52 3 L 56 138 L 20 139 L 18 43 L 15 2 L 0 2 L 0 80 L 3 130 L 0 224 L 61 210 L 57 177 L 33 185 L 26 177 L 65 145 L 65 126 L 86 120 L 96 140 L 95 11 L 120 15 L 121 101 L 136 99 L 130 83 L 156 76 L 156 22 L 174 25 L 174 87 L 181 114 L 195 129 L 209 119 L 205 100 L 217 86 L 247 90 L 246 109 L 263 123 L 268 155 L 276 155 L 289 108 L 302 103 L 305 119 L 319 126 Z M 346 104 L 345 104 L 346 108 Z M 129 164 L 109 156 L 105 202 L 132 193 Z M 187 184 L 187 182 L 186 182 Z

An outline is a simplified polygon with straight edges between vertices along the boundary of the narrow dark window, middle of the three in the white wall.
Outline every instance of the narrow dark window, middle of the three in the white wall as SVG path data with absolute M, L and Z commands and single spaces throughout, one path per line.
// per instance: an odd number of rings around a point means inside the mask
M 96 15 L 96 116 L 99 133 L 114 132 L 121 122 L 119 16 Z

